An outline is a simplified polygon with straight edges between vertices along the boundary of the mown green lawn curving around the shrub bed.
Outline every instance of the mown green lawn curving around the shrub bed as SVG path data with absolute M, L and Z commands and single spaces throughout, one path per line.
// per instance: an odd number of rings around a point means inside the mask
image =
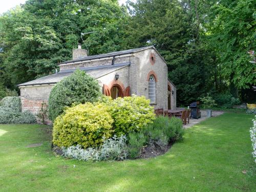
M 45 125 L 2 124 L 0 191 L 256 191 L 252 118 L 212 117 L 186 130 L 163 156 L 119 162 L 55 157 Z

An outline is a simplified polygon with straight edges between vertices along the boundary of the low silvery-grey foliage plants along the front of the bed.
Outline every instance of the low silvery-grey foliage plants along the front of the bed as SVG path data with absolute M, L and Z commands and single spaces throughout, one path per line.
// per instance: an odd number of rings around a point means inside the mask
M 127 158 L 126 137 L 120 136 L 106 139 L 99 148 L 89 147 L 83 149 L 81 145 L 62 147 L 65 157 L 77 160 L 124 160 Z

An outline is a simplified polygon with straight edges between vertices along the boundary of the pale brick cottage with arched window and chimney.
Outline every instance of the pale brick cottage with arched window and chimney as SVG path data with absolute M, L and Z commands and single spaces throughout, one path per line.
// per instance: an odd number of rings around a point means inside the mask
M 97 79 L 102 93 L 112 98 L 144 95 L 155 109 L 176 109 L 176 88 L 167 78 L 167 66 L 154 46 L 101 55 L 73 50 L 73 59 L 59 63 L 59 72 L 19 84 L 22 110 L 36 114 L 48 102 L 53 86 L 76 69 Z

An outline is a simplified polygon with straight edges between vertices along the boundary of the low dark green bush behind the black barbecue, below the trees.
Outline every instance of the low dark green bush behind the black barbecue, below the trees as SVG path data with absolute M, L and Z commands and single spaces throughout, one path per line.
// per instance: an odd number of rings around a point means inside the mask
M 232 97 L 232 95 L 229 93 L 216 94 L 214 96 L 214 99 L 217 102 L 218 106 L 227 109 L 232 108 L 234 105 L 240 104 L 240 100 L 238 98 Z

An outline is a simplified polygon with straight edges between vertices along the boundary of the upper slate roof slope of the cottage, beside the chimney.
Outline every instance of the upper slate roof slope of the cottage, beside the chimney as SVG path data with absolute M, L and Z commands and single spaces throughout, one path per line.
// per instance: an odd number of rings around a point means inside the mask
M 99 59 L 99 58 L 103 58 L 103 57 L 111 57 L 111 56 L 117 56 L 117 55 L 136 53 L 136 52 L 143 51 L 145 49 L 150 49 L 150 48 L 155 49 L 154 46 L 147 46 L 147 47 L 142 47 L 142 48 L 137 48 L 137 49 L 129 49 L 129 50 L 117 51 L 117 52 L 106 53 L 106 54 L 101 54 L 101 55 L 92 55 L 92 56 L 81 57 L 79 59 L 60 62 L 58 65 L 64 64 L 64 63 L 69 63 L 69 62 L 76 62 L 76 61 L 83 61 L 83 60 L 90 60 L 90 59 Z

